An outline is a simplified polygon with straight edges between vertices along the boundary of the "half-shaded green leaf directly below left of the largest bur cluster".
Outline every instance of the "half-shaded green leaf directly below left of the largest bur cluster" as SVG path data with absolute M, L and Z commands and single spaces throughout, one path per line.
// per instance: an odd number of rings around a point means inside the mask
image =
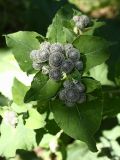
M 61 82 L 56 82 L 42 73 L 36 74 L 31 89 L 27 92 L 24 101 L 48 100 L 54 97 L 61 86 Z

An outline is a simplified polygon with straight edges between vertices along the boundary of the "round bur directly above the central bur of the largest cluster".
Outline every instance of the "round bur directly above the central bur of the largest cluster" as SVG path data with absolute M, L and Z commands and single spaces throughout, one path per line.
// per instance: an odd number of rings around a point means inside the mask
M 63 52 L 63 45 L 61 43 L 54 43 L 50 46 L 50 53 Z

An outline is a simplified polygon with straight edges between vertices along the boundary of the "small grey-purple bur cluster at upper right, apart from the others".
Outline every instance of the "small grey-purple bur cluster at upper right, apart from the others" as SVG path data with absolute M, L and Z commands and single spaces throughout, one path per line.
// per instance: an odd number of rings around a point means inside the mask
M 90 24 L 90 18 L 86 15 L 74 16 L 73 21 L 78 29 L 83 30 Z

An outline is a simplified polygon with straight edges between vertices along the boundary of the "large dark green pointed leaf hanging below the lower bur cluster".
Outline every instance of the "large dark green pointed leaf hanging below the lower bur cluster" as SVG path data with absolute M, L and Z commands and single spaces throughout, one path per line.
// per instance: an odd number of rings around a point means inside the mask
M 74 139 L 87 143 L 89 149 L 97 151 L 93 135 L 98 130 L 101 122 L 102 103 L 94 100 L 67 107 L 59 100 L 52 103 L 55 121 L 63 131 Z

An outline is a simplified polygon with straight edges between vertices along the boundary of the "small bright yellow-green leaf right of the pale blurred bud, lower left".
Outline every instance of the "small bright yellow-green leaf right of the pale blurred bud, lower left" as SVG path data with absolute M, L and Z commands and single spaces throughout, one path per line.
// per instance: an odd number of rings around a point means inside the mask
M 39 114 L 36 109 L 29 109 L 29 118 L 26 119 L 25 126 L 30 129 L 39 129 L 45 126 L 45 116 Z

